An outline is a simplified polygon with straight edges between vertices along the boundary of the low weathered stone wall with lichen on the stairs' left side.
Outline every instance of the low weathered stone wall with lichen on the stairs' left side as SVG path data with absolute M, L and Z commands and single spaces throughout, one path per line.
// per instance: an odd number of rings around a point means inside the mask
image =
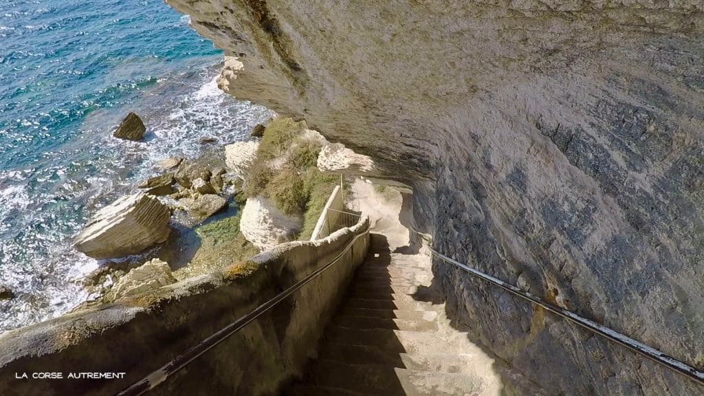
M 148 395 L 272 395 L 301 373 L 369 245 L 368 218 L 220 273 L 0 336 L 0 395 L 115 395 L 328 263 L 340 261 Z M 26 373 L 27 379 L 17 379 Z M 61 373 L 63 379 L 33 379 Z M 70 373 L 125 373 L 69 379 Z M 85 376 L 85 374 L 83 374 Z M 56 374 L 54 374 L 56 376 Z

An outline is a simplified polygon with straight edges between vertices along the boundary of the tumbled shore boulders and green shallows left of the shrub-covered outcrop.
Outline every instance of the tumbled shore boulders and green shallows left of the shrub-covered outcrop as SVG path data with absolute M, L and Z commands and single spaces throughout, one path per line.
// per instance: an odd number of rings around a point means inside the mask
M 113 136 L 139 141 L 143 126 L 130 113 Z M 257 127 L 261 136 L 263 125 Z M 102 262 L 84 278 L 89 300 L 74 311 L 213 271 L 227 264 L 220 262 L 226 256 L 223 246 L 227 256 L 237 259 L 256 254 L 258 249 L 239 233 L 245 200 L 238 195 L 247 161 L 225 161 L 227 148 L 242 143 L 256 149 L 256 142 L 238 142 L 224 145 L 216 155 L 164 159 L 157 163 L 156 175 L 97 211 L 75 237 L 74 247 Z

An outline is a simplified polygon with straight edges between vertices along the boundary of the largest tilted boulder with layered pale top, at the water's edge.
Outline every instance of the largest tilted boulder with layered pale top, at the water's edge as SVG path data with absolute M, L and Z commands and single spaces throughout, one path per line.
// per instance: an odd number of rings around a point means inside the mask
M 137 254 L 169 235 L 169 209 L 144 193 L 127 195 L 99 210 L 73 246 L 95 259 Z

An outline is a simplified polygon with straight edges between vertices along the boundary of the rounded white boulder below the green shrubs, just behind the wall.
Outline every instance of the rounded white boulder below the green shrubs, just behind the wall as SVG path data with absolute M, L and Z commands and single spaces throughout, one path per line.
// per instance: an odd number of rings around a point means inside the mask
M 294 240 L 301 218 L 287 216 L 263 197 L 248 198 L 239 221 L 242 235 L 259 250 Z

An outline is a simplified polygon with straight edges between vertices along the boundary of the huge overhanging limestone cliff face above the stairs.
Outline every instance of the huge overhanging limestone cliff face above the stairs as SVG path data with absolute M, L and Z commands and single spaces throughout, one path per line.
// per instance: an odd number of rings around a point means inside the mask
M 237 57 L 223 89 L 412 185 L 441 252 L 704 366 L 702 1 L 167 1 Z M 704 394 L 434 272 L 453 317 L 548 394 Z

